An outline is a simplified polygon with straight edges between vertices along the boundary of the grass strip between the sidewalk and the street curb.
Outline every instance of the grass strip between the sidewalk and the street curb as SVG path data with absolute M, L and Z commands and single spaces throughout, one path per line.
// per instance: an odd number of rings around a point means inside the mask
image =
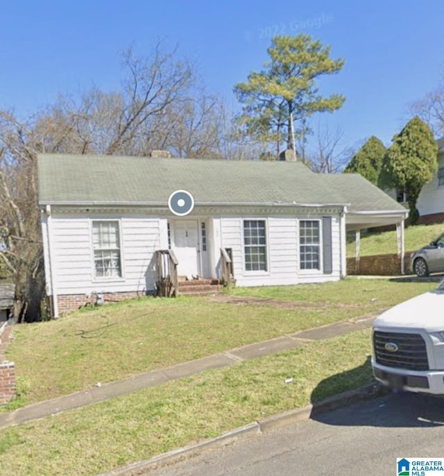
M 370 331 L 0 431 L 0 474 L 96 475 L 371 381 Z M 285 384 L 287 377 L 293 377 Z

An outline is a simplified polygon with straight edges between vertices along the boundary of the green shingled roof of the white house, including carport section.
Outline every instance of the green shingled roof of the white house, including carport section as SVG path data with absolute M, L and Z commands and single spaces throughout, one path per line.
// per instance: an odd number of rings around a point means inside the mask
M 343 204 L 404 211 L 359 174 L 315 174 L 300 162 L 38 156 L 39 203 L 164 205 L 185 189 L 199 204 Z

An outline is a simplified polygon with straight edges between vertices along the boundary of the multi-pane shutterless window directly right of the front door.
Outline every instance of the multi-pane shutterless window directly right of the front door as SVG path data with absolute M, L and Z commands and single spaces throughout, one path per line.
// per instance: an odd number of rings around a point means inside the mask
M 265 220 L 244 220 L 246 271 L 266 271 Z

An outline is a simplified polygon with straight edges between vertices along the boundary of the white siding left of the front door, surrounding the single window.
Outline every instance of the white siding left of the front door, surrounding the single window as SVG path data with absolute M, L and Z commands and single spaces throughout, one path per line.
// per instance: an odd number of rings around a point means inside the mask
M 167 249 L 167 220 L 126 216 L 103 220 L 85 215 L 52 215 L 51 261 L 58 294 L 85 295 L 137 291 L 144 295 L 155 289 L 155 250 Z M 95 277 L 92 224 L 118 222 L 122 277 Z

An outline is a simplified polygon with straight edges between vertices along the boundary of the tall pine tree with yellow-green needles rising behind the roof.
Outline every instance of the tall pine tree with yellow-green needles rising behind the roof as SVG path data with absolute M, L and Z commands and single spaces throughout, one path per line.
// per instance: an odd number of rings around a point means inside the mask
M 276 155 L 282 142 L 293 149 L 293 136 L 302 133 L 313 113 L 339 109 L 345 97 L 318 93 L 316 78 L 339 72 L 344 60 L 330 58 L 330 46 L 323 47 L 310 35 L 278 35 L 268 48 L 270 60 L 261 72 L 251 72 L 246 83 L 234 85 L 234 94 L 244 104 L 238 120 L 248 134 L 262 142 L 275 142 Z M 299 129 L 293 129 L 293 122 Z

